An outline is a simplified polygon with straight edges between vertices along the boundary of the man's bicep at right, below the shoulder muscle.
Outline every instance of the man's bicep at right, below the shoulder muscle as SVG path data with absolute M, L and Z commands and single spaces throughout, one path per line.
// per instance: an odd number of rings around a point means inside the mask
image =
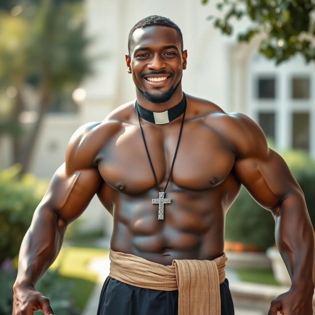
M 263 208 L 274 211 L 291 193 L 302 193 L 284 159 L 274 150 L 243 157 L 234 163 L 234 173 Z

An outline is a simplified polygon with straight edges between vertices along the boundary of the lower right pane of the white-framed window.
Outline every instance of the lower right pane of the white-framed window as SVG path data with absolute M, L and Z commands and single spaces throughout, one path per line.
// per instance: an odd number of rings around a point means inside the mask
M 293 113 L 292 144 L 295 149 L 309 148 L 309 113 Z

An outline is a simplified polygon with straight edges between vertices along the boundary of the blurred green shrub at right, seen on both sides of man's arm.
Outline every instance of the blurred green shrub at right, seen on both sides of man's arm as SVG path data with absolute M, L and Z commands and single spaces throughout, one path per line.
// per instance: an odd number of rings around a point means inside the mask
M 271 146 L 270 146 L 271 147 Z M 275 150 L 273 148 L 273 150 Z M 275 150 L 277 151 L 277 150 Z M 315 162 L 302 150 L 278 152 L 301 186 L 313 224 L 315 223 Z M 271 212 L 263 209 L 242 185 L 241 191 L 226 215 L 225 238 L 244 244 L 255 244 L 262 251 L 275 243 L 275 222 Z

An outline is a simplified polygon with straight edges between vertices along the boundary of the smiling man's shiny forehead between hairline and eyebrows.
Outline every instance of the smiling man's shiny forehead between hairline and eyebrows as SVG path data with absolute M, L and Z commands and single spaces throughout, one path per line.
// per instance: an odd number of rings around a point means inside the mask
M 133 50 L 141 46 L 162 46 L 173 44 L 180 50 L 180 35 L 177 30 L 168 26 L 146 26 L 137 28 L 133 35 Z

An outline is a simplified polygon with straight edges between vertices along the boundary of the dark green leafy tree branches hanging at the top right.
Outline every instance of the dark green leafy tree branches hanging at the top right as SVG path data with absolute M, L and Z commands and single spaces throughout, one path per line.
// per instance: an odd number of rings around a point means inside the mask
M 209 0 L 202 0 L 207 4 Z M 259 51 L 276 64 L 300 52 L 308 63 L 315 60 L 315 11 L 314 0 L 223 0 L 217 9 L 226 10 L 224 18 L 208 16 L 214 27 L 223 34 L 231 35 L 231 19 L 247 16 L 254 23 L 245 33 L 238 35 L 239 41 L 249 41 L 255 34 L 263 33 Z

